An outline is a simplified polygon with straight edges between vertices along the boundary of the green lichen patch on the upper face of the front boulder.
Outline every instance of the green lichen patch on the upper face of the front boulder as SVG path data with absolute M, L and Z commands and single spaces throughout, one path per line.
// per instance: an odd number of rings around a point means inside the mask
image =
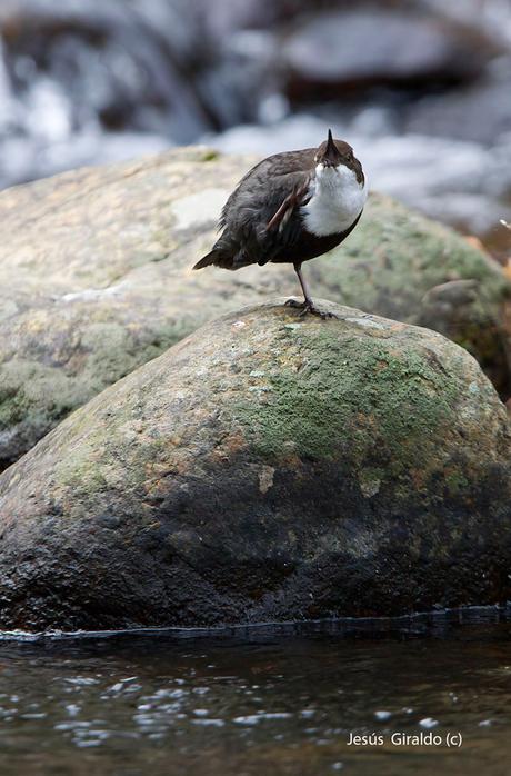
M 461 376 L 452 380 L 423 354 L 397 355 L 383 338 L 361 341 L 358 332 L 335 334 L 327 327 L 319 336 L 307 327 L 297 331 L 298 349 L 289 342 L 285 362 L 275 360 L 264 376 L 264 400 L 246 405 L 247 425 L 261 452 L 279 456 L 288 435 L 300 456 L 331 456 L 332 440 L 345 438 L 357 449 L 359 434 L 365 438 L 373 425 L 380 444 L 397 455 L 403 440 L 413 436 L 420 447 L 449 422 Z M 312 356 L 297 369 L 292 357 L 302 349 Z

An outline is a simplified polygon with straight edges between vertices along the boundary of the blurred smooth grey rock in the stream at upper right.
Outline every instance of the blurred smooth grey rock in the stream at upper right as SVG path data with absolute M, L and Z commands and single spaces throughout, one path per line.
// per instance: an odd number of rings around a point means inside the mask
M 303 101 L 345 97 L 347 89 L 462 81 L 495 51 L 482 34 L 440 16 L 367 4 L 303 20 L 287 38 L 282 59 L 289 94 Z

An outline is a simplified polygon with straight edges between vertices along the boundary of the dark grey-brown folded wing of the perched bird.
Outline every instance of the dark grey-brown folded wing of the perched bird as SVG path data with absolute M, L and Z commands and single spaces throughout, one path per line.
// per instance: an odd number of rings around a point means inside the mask
M 267 263 L 298 239 L 294 217 L 308 201 L 314 149 L 269 157 L 253 167 L 229 197 L 220 221 L 218 249 L 234 255 L 233 268 Z

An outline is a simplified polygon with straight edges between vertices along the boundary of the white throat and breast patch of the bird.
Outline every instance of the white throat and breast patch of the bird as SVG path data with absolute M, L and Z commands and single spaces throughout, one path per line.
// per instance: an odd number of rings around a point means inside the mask
M 301 208 L 305 229 L 318 237 L 345 231 L 359 217 L 368 197 L 365 183 L 359 183 L 344 165 L 315 168 L 310 201 Z

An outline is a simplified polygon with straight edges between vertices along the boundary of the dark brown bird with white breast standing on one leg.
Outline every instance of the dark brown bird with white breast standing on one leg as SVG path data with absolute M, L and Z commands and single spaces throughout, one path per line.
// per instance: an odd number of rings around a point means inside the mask
M 301 308 L 302 316 L 332 317 L 314 305 L 302 263 L 345 240 L 367 196 L 361 162 L 329 129 L 318 148 L 274 153 L 247 172 L 222 209 L 220 237 L 193 269 L 292 263 L 303 301 L 285 304 Z

